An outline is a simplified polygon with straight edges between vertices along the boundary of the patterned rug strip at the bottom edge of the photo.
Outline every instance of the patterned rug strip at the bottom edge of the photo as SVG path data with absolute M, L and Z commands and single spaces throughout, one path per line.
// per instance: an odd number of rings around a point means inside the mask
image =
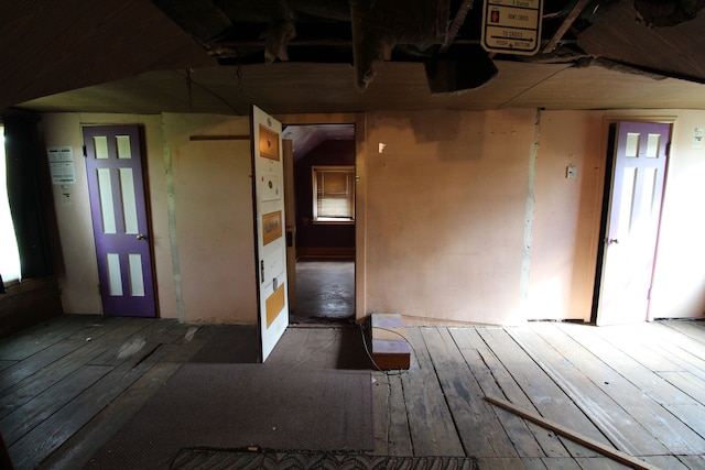
M 479 470 L 475 457 L 392 457 L 326 452 L 250 452 L 226 449 L 181 449 L 174 470 L 360 469 L 360 470 Z

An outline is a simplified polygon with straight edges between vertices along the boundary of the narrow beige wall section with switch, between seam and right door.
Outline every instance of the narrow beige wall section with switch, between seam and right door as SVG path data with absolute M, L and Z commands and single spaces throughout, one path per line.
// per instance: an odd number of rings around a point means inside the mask
M 607 151 L 601 111 L 544 111 L 528 319 L 590 319 Z M 575 166 L 575 179 L 566 177 Z

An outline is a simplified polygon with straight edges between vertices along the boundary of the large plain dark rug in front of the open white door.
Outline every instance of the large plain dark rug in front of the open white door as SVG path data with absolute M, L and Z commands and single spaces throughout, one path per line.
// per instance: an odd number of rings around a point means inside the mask
M 371 450 L 371 374 L 184 364 L 87 468 L 169 468 L 182 448 Z

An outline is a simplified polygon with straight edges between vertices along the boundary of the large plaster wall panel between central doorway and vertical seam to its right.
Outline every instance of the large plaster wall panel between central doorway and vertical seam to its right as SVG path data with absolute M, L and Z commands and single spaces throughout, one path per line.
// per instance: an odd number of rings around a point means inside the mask
M 518 324 L 535 110 L 368 113 L 367 309 Z

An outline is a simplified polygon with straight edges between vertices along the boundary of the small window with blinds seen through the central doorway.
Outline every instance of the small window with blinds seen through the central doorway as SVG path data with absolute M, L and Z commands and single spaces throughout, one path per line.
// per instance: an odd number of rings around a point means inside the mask
M 355 222 L 355 166 L 313 167 L 313 220 Z

